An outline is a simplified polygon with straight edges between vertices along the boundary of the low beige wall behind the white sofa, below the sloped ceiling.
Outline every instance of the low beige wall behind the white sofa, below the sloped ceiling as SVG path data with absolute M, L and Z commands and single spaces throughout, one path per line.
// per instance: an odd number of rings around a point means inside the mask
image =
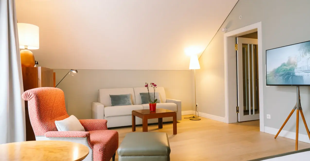
M 55 69 L 56 84 L 69 69 Z M 154 82 L 165 88 L 166 97 L 182 101 L 182 111 L 194 109 L 194 75 L 191 70 L 78 70 L 58 85 L 65 94 L 69 115 L 91 118 L 91 102 L 97 101 L 98 89 L 143 87 Z

